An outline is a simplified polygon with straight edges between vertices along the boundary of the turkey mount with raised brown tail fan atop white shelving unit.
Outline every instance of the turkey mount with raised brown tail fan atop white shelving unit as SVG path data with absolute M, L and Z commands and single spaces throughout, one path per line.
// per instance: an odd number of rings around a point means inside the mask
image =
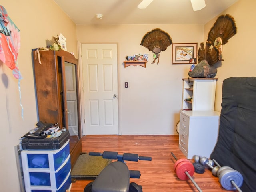
M 236 34 L 236 23 L 229 14 L 221 15 L 208 33 L 206 46 L 201 43 L 198 49 L 198 64 L 191 65 L 188 75 L 192 78 L 214 78 L 217 69 L 213 65 L 222 58 L 222 45 Z

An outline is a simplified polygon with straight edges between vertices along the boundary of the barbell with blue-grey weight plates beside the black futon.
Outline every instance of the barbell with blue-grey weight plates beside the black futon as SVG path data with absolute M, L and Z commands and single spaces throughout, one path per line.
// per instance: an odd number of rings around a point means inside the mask
M 240 189 L 244 181 L 242 174 L 231 167 L 221 167 L 220 164 L 218 164 L 218 162 L 214 159 L 213 161 L 220 168 L 217 175 L 221 186 L 226 190 L 237 190 L 238 192 L 242 192 Z

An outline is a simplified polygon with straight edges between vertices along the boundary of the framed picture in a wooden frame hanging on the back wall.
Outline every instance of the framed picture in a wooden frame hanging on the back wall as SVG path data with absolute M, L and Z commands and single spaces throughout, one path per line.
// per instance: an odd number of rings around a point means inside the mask
M 172 64 L 196 64 L 197 43 L 172 44 Z

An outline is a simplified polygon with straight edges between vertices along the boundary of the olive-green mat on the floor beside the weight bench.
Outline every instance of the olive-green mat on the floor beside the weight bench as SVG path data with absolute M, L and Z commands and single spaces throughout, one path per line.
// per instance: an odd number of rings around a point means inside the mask
M 112 159 L 104 159 L 102 156 L 91 156 L 87 153 L 82 153 L 71 170 L 71 178 L 95 179 L 111 162 Z

